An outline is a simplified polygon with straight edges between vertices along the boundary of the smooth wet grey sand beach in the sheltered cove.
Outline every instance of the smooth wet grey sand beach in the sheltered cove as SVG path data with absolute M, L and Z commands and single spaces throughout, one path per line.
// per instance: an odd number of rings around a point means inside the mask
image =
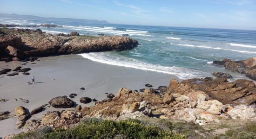
M 94 105 L 93 101 L 89 104 L 82 104 L 79 99 L 90 97 L 101 101 L 106 98 L 105 93 L 116 94 L 121 87 L 139 90 L 145 88 L 146 83 L 150 83 L 153 88 L 157 88 L 161 85 L 168 86 L 171 78 L 178 79 L 177 76 L 169 74 L 96 63 L 80 55 L 43 57 L 39 60 L 34 62 L 36 64 L 29 62 L 27 65 L 21 65 L 22 62 L 0 63 L 0 69 L 14 69 L 18 66 L 32 69 L 28 76 L 21 73 L 18 76 L 0 76 L 1 99 L 9 99 L 5 103 L 0 103 L 0 111 L 9 111 L 13 114 L 17 106 L 26 107 L 31 111 L 47 104 L 56 96 L 68 96 L 71 93 L 77 94 L 71 100 L 78 105 L 91 106 Z M 33 76 L 37 83 L 28 85 L 27 81 L 32 82 Z M 81 90 L 81 87 L 85 90 Z M 27 99 L 29 103 L 14 101 L 15 98 Z M 39 114 L 34 114 L 32 118 L 40 118 L 47 111 L 61 110 L 49 107 Z M 16 120 L 17 117 L 13 117 L 0 121 L 0 137 L 22 132 L 16 128 Z

